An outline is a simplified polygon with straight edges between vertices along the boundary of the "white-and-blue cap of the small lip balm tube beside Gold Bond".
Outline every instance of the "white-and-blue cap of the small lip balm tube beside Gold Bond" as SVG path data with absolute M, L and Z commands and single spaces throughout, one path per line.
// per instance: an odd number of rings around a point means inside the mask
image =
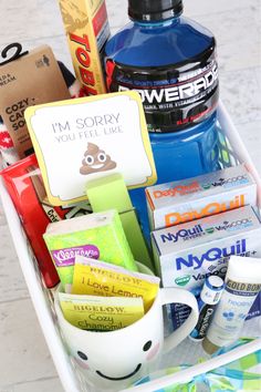
M 223 280 L 216 275 L 211 275 L 205 280 L 200 298 L 205 303 L 216 305 L 219 302 L 225 283 Z

